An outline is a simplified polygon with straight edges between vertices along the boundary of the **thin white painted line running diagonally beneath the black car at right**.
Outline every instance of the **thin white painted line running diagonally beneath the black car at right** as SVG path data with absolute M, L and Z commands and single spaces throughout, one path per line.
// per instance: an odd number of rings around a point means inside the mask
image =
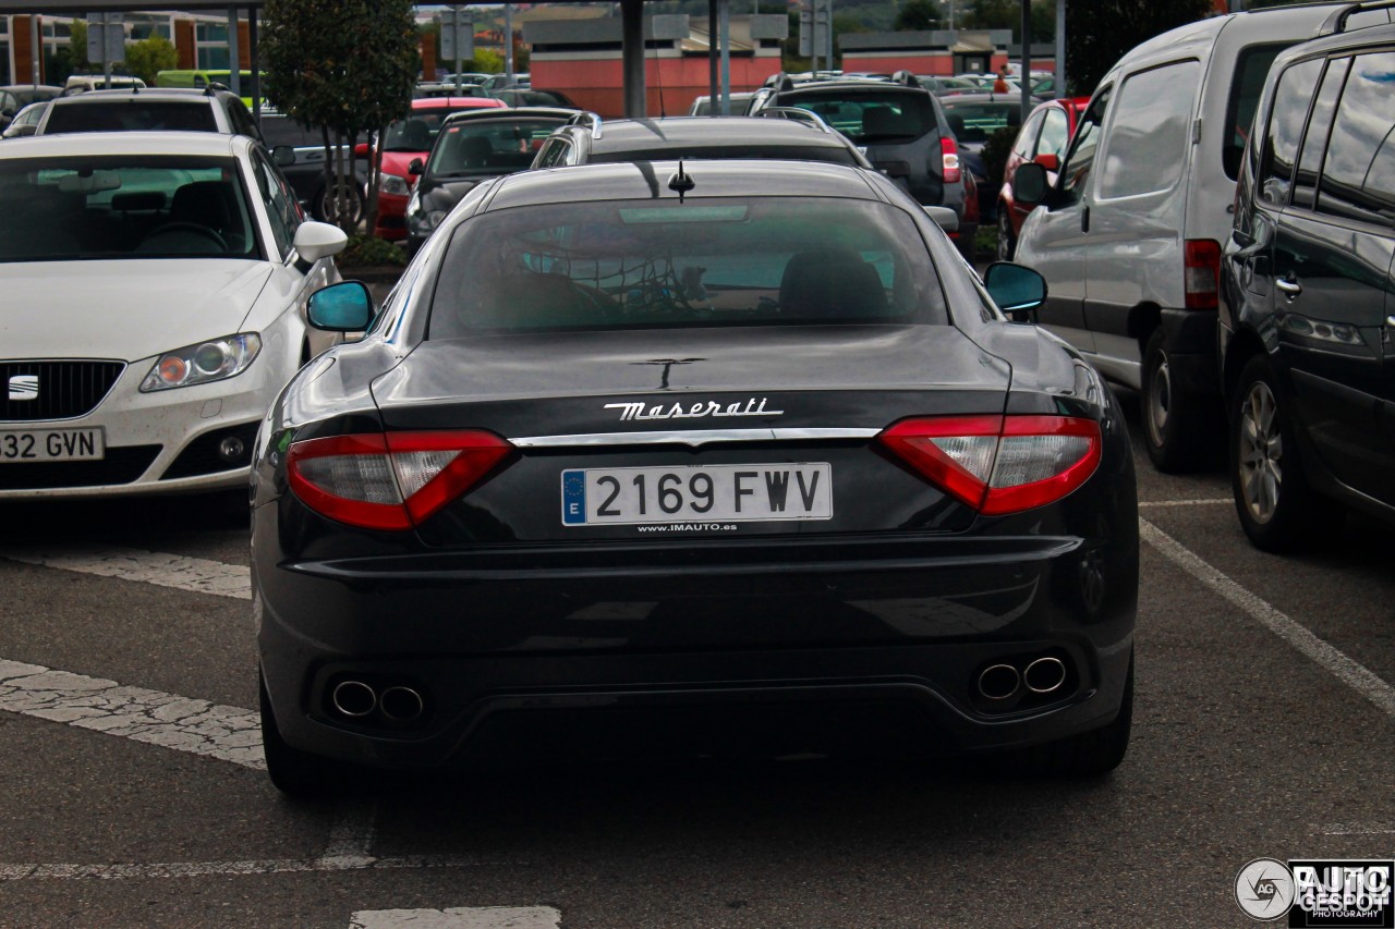
M 1360 693 L 1389 716 L 1395 716 L 1395 688 L 1385 683 L 1366 665 L 1332 647 L 1303 625 L 1279 612 L 1262 598 L 1250 593 L 1226 575 L 1212 568 L 1200 555 L 1162 531 L 1147 519 L 1138 520 L 1138 534 L 1169 561 L 1247 612 L 1254 621 L 1306 654 L 1336 679 Z

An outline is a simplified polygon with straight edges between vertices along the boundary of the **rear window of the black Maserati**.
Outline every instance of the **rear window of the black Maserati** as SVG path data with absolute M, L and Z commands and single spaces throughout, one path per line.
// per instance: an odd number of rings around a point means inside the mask
M 463 223 L 430 338 L 868 322 L 947 322 L 925 241 L 900 209 L 816 197 L 628 199 Z

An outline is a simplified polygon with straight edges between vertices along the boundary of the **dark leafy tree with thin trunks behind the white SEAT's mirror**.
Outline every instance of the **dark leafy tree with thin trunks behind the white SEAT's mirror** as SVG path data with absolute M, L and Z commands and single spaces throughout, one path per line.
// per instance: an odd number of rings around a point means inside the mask
M 319 127 L 335 216 L 353 226 L 357 216 L 343 216 L 335 183 L 336 176 L 353 176 L 343 144 L 361 133 L 382 138 L 389 123 L 407 114 L 421 70 L 413 6 L 410 0 L 268 0 L 265 15 L 266 99 L 301 126 Z M 381 174 L 382 149 L 374 146 L 370 230 Z

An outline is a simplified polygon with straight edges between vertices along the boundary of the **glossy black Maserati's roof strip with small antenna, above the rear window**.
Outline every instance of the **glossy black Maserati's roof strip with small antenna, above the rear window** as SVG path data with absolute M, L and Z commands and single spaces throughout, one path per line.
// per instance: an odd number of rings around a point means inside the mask
M 774 120 L 771 120 L 774 121 Z M 865 172 L 830 162 L 685 160 L 688 197 L 843 197 L 882 199 Z M 678 162 L 607 162 L 519 172 L 501 179 L 487 209 L 580 199 L 677 199 L 668 188 Z

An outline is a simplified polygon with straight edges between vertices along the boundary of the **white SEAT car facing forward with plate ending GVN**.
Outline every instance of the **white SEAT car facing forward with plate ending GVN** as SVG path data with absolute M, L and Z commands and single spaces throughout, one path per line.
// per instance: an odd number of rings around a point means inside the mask
M 212 133 L 0 148 L 0 499 L 243 487 L 346 237 Z

